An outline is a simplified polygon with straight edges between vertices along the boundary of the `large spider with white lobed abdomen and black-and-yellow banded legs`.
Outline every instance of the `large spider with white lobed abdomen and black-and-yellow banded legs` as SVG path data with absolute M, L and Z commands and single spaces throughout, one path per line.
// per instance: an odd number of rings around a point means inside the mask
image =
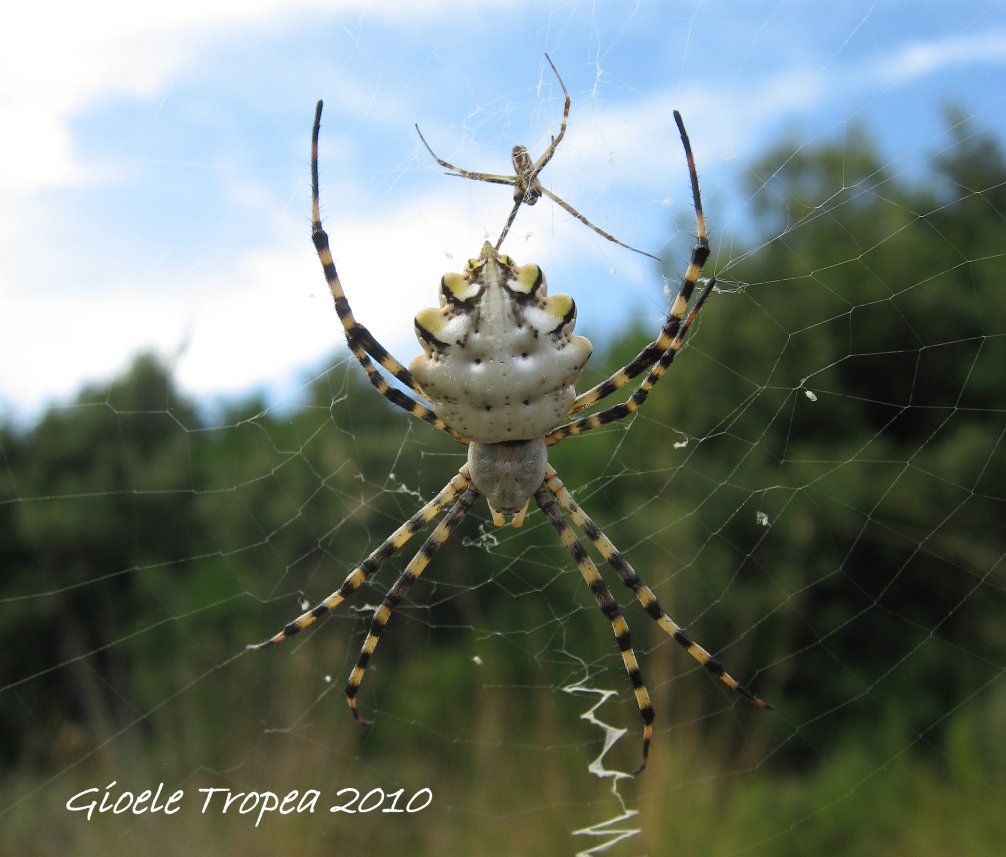
M 469 260 L 464 273 L 444 276 L 440 307 L 421 310 L 416 315 L 415 333 L 423 346 L 423 354 L 412 360 L 409 368 L 402 366 L 366 327 L 356 321 L 332 261 L 328 235 L 321 225 L 318 190 L 321 112 L 322 103 L 319 102 L 311 139 L 312 238 L 346 341 L 381 395 L 466 445 L 468 462 L 433 500 L 350 571 L 336 591 L 288 624 L 276 636 L 248 648 L 261 649 L 282 643 L 314 624 L 319 617 L 358 589 L 388 557 L 450 506 L 450 511 L 405 565 L 371 619 L 359 659 L 346 683 L 349 708 L 356 720 L 361 721 L 356 694 L 391 612 L 437 550 L 450 538 L 479 495 L 485 496 L 488 501 L 496 526 L 503 526 L 506 516 L 510 516 L 515 527 L 523 524 L 533 497 L 572 557 L 598 607 L 612 624 L 644 723 L 643 753 L 636 773 L 646 766 L 653 735 L 654 715 L 650 694 L 636 661 L 629 626 L 594 560 L 566 522 L 565 515 L 572 519 L 605 561 L 615 569 L 650 618 L 688 654 L 756 705 L 771 707 L 727 674 L 715 658 L 664 613 L 657 596 L 573 500 L 547 460 L 548 447 L 627 416 L 642 406 L 653 386 L 674 361 L 688 329 L 712 293 L 715 280 L 710 279 L 694 303 L 691 302 L 692 292 L 709 255 L 709 242 L 695 163 L 681 116 L 674 112 L 688 163 L 697 231 L 697 242 L 692 248 L 681 288 L 656 339 L 625 367 L 577 395 L 574 385 L 591 356 L 592 346 L 584 337 L 573 335 L 576 311 L 572 298 L 566 295 L 547 296 L 541 269 L 536 265 L 516 265 L 508 255 L 497 252 L 488 241 L 483 244 L 478 258 Z M 411 394 L 390 386 L 374 365 L 375 361 Z M 644 371 L 646 377 L 624 402 L 566 421 L 571 414 L 611 395 Z

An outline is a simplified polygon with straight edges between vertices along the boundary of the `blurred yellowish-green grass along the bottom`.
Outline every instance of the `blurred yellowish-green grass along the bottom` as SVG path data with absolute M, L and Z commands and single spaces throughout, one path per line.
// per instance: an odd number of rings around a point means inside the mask
M 360 731 L 348 717 L 333 722 L 327 704 L 297 700 L 292 705 L 303 706 L 309 719 L 275 731 L 217 720 L 200 740 L 186 742 L 166 722 L 152 723 L 151 735 L 131 741 L 128 751 L 124 742 L 113 742 L 109 752 L 70 763 L 47 783 L 38 774 L 9 776 L 4 806 L 29 797 L 5 815 L 0 853 L 572 855 L 602 841 L 573 831 L 622 808 L 610 782 L 585 772 L 598 747 L 577 745 L 560 728 L 575 723 L 571 737 L 590 740 L 590 727 L 576 719 L 583 700 L 560 702 L 561 696 L 545 688 L 486 687 L 463 728 L 385 712 L 379 728 Z M 528 712 L 535 716 L 528 720 Z M 619 706 L 612 713 L 621 718 L 630 711 Z M 651 767 L 621 785 L 627 806 L 638 810 L 621 827 L 641 832 L 612 853 L 997 853 L 1006 842 L 1006 750 L 995 740 L 997 716 L 991 706 L 960 713 L 945 747 L 920 740 L 882 751 L 835 747 L 799 774 L 774 769 L 765 757 L 737 770 L 729 753 L 714 751 L 725 744 L 694 724 L 665 728 Z M 158 740 L 162 731 L 172 739 Z M 628 762 L 619 753 L 629 753 L 630 743 L 635 751 L 635 737 L 634 729 L 613 754 Z M 193 763 L 191 752 L 204 753 L 207 742 L 226 765 Z M 172 816 L 109 813 L 91 821 L 65 810 L 70 796 L 104 790 L 113 780 L 117 789 L 137 792 L 162 782 L 169 792 L 182 789 L 181 810 Z M 312 813 L 274 813 L 256 826 L 255 812 L 242 815 L 235 803 L 223 813 L 222 799 L 202 812 L 198 790 L 210 787 L 281 796 L 317 789 L 321 798 Z M 361 796 L 375 788 L 386 794 L 404 789 L 405 800 L 429 788 L 433 802 L 412 814 L 329 812 L 344 787 Z

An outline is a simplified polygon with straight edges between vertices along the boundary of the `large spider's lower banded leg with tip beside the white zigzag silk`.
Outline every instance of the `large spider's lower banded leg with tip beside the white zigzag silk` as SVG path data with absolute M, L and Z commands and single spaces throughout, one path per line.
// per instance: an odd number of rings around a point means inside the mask
M 549 468 L 551 471 L 551 468 Z M 554 471 L 551 471 L 554 473 Z M 643 674 L 640 672 L 639 663 L 636 660 L 636 653 L 632 648 L 632 638 L 629 634 L 629 625 L 619 610 L 618 603 L 612 597 L 608 586 L 598 571 L 598 566 L 591 559 L 585 548 L 580 544 L 570 526 L 562 517 L 562 512 L 552 499 L 552 494 L 545 485 L 542 485 L 534 495 L 534 500 L 544 512 L 548 523 L 558 534 L 562 546 L 569 551 L 573 562 L 579 569 L 579 573 L 586 581 L 586 585 L 594 593 L 595 599 L 601 612 L 612 624 L 612 631 L 615 632 L 615 642 L 622 653 L 622 663 L 625 665 L 626 673 L 629 674 L 629 681 L 632 683 L 633 693 L 636 695 L 636 704 L 639 706 L 639 714 L 643 718 L 643 755 L 634 774 L 639 774 L 646 767 L 646 762 L 650 757 L 650 741 L 653 738 L 653 705 L 650 703 L 650 694 L 643 682 Z

